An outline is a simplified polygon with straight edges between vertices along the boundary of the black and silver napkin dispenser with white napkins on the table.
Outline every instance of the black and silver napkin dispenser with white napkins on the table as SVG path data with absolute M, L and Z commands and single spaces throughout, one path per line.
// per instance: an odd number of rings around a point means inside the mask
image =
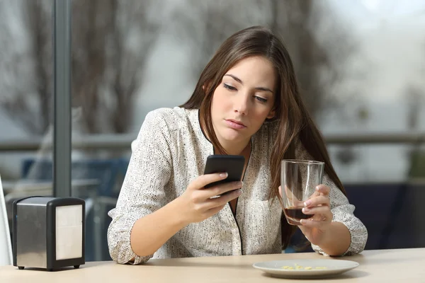
M 77 197 L 13 202 L 13 265 L 48 271 L 84 265 L 85 207 Z

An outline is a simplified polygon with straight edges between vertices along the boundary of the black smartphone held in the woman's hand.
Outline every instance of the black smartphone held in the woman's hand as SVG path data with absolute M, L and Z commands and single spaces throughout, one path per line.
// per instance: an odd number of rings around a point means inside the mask
M 227 178 L 217 182 L 212 182 L 205 187 L 212 187 L 214 185 L 240 181 L 244 173 L 245 158 L 240 155 L 210 155 L 205 164 L 205 174 L 227 172 Z

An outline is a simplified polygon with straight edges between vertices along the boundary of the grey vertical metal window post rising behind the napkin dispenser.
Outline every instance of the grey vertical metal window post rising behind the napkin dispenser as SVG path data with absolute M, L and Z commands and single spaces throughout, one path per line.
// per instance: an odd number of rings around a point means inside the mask
M 54 116 L 53 195 L 71 196 L 72 0 L 53 2 Z

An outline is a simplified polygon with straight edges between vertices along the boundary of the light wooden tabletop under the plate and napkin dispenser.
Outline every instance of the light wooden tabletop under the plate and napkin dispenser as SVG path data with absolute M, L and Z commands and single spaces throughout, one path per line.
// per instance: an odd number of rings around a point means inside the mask
M 79 270 L 57 272 L 18 270 L 0 267 L 0 282 L 301 282 L 302 279 L 268 277 L 252 267 L 254 262 L 302 258 L 325 258 L 316 253 L 243 255 L 210 258 L 174 258 L 149 260 L 144 265 L 118 265 L 115 262 L 87 262 Z M 334 260 L 334 258 L 325 258 Z M 337 259 L 337 258 L 336 258 Z M 425 282 L 425 248 L 365 250 L 360 255 L 340 258 L 354 260 L 360 266 L 322 282 Z M 280 281 L 282 280 L 282 281 Z M 340 280 L 340 281 L 339 281 Z M 312 282 L 312 280 L 308 280 Z

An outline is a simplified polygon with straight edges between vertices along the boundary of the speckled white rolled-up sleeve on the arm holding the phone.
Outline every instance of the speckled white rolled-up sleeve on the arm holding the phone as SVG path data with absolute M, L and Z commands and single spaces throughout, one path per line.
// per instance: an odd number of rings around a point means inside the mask
M 118 263 L 138 264 L 152 258 L 152 254 L 137 256 L 132 250 L 130 235 L 135 225 L 145 216 L 157 212 L 166 204 L 164 187 L 172 171 L 169 133 L 166 122 L 157 111 L 149 112 L 140 129 L 116 207 L 109 212 L 108 246 L 111 258 Z M 167 137 L 168 135 L 168 137 Z M 136 237 L 139 238 L 139 237 Z M 137 243 L 137 242 L 136 242 Z M 137 244 L 136 244 L 137 248 Z M 140 249 L 137 249 L 140 252 Z

